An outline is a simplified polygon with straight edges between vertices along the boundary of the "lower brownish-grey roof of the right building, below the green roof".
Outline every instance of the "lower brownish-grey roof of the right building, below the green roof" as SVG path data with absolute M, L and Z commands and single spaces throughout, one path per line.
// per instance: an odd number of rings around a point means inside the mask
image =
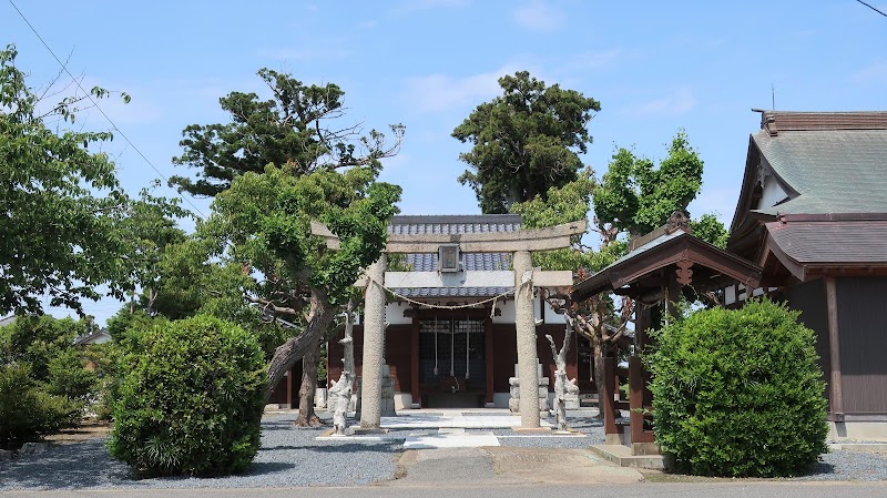
M 887 220 L 767 223 L 779 248 L 799 264 L 887 264 Z

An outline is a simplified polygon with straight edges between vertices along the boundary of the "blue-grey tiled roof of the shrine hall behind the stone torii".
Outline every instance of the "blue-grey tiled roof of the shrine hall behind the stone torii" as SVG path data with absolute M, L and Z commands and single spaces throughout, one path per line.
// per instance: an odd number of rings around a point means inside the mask
M 476 214 L 476 215 L 410 215 L 394 216 L 388 225 L 390 234 L 463 234 L 488 232 L 517 232 L 520 230 L 519 214 Z M 435 272 L 438 255 L 406 254 L 406 263 L 415 272 Z M 462 253 L 462 267 L 466 271 L 509 270 L 510 254 Z M 398 294 L 406 297 L 492 297 L 512 291 L 510 287 L 442 287 L 442 288 L 400 288 Z

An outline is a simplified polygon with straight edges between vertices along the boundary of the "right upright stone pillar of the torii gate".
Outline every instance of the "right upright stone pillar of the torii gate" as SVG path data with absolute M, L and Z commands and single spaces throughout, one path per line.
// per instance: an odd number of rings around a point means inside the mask
M 536 345 L 536 313 L 533 309 L 532 281 L 524 276 L 532 272 L 529 251 L 517 251 L 514 266 L 514 328 L 518 343 L 518 378 L 520 378 L 520 427 L 538 429 L 539 416 L 539 362 Z

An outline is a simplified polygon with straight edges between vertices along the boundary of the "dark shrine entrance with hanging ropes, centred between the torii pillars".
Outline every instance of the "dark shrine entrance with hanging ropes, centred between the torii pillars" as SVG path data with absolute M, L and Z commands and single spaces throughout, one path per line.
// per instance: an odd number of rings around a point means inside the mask
M 428 408 L 479 408 L 487 393 L 483 319 L 419 321 L 419 392 Z

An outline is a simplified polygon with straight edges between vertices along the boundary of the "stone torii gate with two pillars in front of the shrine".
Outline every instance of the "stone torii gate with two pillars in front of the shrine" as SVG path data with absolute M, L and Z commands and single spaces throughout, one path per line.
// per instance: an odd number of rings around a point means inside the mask
M 367 286 L 364 301 L 364 359 L 360 386 L 360 428 L 381 428 L 381 369 L 385 349 L 385 286 L 392 287 L 470 287 L 514 286 L 514 327 L 520 378 L 520 419 L 522 429 L 540 427 L 537 393 L 536 319 L 533 287 L 569 286 L 570 271 L 533 271 L 531 253 L 570 247 L 570 237 L 585 233 L 588 221 L 516 232 L 462 234 L 388 234 L 388 244 L 379 260 L 365 272 Z M 327 247 L 339 248 L 338 237 L 320 223 L 312 222 L 312 233 L 326 238 Z M 437 253 L 441 245 L 458 245 L 463 253 L 513 253 L 513 271 L 465 272 L 465 281 L 446 282 L 439 272 L 386 272 L 388 253 Z M 473 274 L 473 275 L 472 275 Z M 485 275 L 478 275 L 485 274 Z M 481 278 L 472 278 L 481 276 Z M 495 283 L 492 283 L 495 282 Z M 453 284 L 457 285 L 446 285 Z M 367 375 L 371 373 L 371 375 Z

